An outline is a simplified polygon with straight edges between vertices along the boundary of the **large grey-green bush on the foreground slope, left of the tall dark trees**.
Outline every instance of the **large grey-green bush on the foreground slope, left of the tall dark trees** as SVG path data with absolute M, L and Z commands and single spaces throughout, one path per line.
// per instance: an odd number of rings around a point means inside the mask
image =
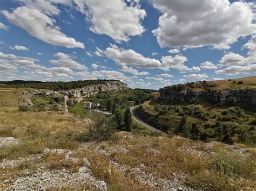
M 80 135 L 78 140 L 81 142 L 103 142 L 104 140 L 116 142 L 116 131 L 116 124 L 114 124 L 113 120 L 107 120 L 107 118 L 96 119 L 96 121 L 89 126 L 89 130 Z

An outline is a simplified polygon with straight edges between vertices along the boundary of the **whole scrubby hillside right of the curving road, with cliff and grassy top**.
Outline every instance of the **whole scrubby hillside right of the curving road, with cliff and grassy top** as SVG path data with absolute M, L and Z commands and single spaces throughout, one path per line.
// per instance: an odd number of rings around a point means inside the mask
M 253 76 L 169 86 L 159 89 L 159 98 L 145 102 L 136 112 L 155 128 L 176 135 L 255 146 L 255 85 Z M 199 91 L 198 86 L 204 90 Z M 179 130 L 182 120 L 186 121 L 186 133 Z

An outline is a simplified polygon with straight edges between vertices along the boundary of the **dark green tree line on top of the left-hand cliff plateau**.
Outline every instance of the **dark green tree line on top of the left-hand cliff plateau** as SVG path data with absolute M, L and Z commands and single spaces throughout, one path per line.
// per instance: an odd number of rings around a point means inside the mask
M 83 88 L 84 86 L 92 86 L 96 84 L 105 83 L 113 80 L 78 80 L 71 82 L 38 82 L 38 83 L 18 83 L 6 84 L 6 87 L 11 88 L 35 88 L 35 89 L 49 89 L 49 90 L 69 90 L 76 88 Z

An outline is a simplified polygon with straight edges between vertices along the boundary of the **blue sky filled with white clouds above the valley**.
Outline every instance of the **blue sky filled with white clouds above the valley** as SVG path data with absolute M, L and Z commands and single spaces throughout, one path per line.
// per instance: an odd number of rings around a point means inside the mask
M 255 74 L 255 0 L 0 1 L 1 81 L 159 89 Z

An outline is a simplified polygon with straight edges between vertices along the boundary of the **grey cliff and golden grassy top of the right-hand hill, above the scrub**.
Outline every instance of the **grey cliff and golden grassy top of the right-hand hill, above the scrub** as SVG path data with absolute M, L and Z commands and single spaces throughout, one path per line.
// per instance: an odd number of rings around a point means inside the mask
M 238 80 L 238 81 L 237 81 Z M 160 99 L 170 102 L 256 104 L 256 77 L 236 80 L 200 81 L 160 88 Z

